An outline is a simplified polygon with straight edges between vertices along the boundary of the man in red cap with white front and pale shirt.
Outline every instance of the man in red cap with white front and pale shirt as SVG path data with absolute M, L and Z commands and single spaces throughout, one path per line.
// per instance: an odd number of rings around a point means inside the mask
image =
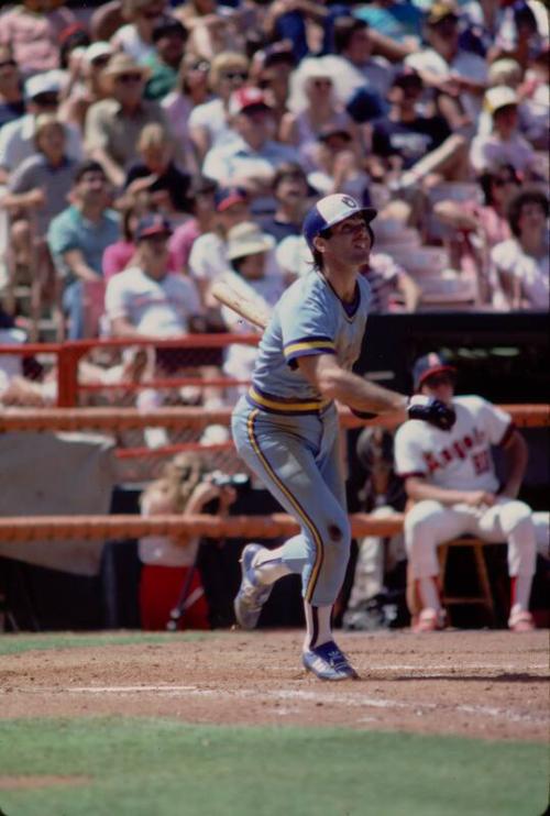
M 272 139 L 271 109 L 258 88 L 235 91 L 229 112 L 237 137 L 228 145 L 212 147 L 202 169 L 219 184 L 244 187 L 252 198 L 254 213 L 273 212 L 275 170 L 283 162 L 297 162 L 297 151 Z

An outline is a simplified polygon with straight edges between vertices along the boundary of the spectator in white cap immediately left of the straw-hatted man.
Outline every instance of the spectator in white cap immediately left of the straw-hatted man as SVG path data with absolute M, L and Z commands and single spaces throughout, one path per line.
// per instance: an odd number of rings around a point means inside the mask
M 114 51 L 107 42 L 88 45 L 79 63 L 78 81 L 67 89 L 59 107 L 59 117 L 84 133 L 89 108 L 107 96 L 103 71 Z

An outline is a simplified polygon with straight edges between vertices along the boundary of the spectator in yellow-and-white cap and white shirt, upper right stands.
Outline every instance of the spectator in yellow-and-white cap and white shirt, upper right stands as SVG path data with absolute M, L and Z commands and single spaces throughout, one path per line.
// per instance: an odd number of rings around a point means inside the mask
M 490 88 L 485 104 L 493 118 L 488 135 L 477 135 L 470 148 L 470 164 L 480 175 L 496 164 L 510 164 L 524 178 L 536 174 L 537 156 L 518 129 L 518 96 L 507 86 Z

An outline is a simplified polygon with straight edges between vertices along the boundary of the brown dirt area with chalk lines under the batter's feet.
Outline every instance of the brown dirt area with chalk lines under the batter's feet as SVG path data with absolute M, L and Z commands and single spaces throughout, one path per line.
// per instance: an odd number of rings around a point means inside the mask
M 7 636 L 10 637 L 10 636 Z M 0 717 L 129 715 L 547 739 L 548 631 L 340 633 L 361 680 L 300 668 L 299 630 L 2 657 Z

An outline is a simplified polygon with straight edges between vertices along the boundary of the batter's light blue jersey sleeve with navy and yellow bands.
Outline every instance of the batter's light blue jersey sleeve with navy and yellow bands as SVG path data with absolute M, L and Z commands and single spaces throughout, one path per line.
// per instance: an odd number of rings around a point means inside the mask
M 298 357 L 336 354 L 336 319 L 320 299 L 309 295 L 305 300 L 285 300 L 279 310 L 283 355 L 288 365 Z

